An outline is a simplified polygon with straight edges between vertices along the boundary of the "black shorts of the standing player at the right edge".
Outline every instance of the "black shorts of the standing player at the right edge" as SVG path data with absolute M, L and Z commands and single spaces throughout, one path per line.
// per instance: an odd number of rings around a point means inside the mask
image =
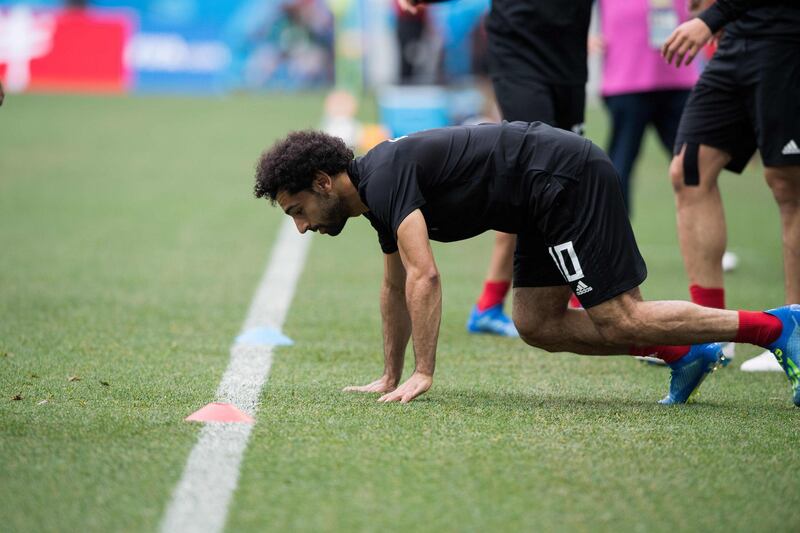
M 684 108 L 675 154 L 705 144 L 741 172 L 756 148 L 766 166 L 800 165 L 800 47 L 725 36 Z

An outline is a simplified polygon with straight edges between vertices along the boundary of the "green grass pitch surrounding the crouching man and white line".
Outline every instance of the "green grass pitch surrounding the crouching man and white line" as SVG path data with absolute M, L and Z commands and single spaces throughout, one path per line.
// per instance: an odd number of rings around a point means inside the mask
M 282 221 L 262 148 L 322 95 L 12 96 L 0 108 L 0 529 L 154 531 Z M 369 113 L 367 113 L 369 115 Z M 605 144 L 601 110 L 590 138 Z M 667 157 L 648 138 L 634 226 L 648 298 L 686 298 Z M 777 210 L 722 178 L 731 307 L 782 303 Z M 800 410 L 755 348 L 665 408 L 667 372 L 468 336 L 492 239 L 435 245 L 433 389 L 347 395 L 381 371 L 366 221 L 315 237 L 261 396 L 229 531 L 798 531 Z M 408 356 L 407 372 L 413 357 Z M 14 399 L 20 397 L 21 399 Z

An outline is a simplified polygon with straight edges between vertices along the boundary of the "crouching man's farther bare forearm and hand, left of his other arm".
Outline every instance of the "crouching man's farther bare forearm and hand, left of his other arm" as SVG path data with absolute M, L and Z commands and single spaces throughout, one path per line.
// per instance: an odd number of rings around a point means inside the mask
M 345 387 L 353 392 L 390 392 L 397 388 L 403 375 L 411 318 L 406 308 L 406 270 L 395 252 L 383 256 L 381 286 L 381 318 L 383 320 L 383 375 L 367 385 Z

